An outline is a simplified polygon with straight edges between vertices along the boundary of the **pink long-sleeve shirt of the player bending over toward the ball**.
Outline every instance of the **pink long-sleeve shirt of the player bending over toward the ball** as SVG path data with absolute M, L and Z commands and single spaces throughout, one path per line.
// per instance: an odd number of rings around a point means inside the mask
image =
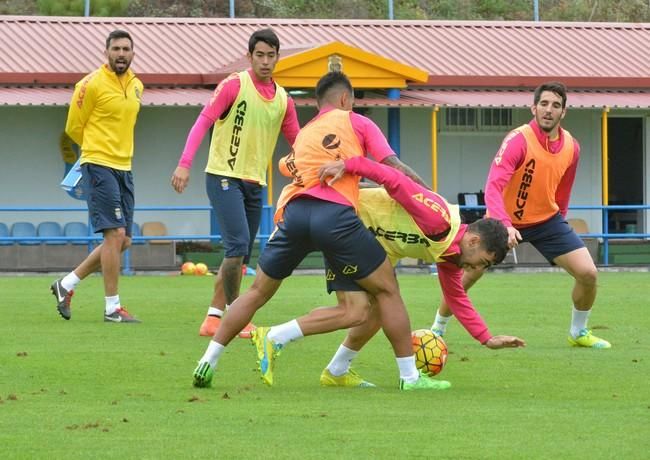
M 345 169 L 350 174 L 367 177 L 378 184 L 382 184 L 388 194 L 413 217 L 424 235 L 438 235 L 449 230 L 449 221 L 437 210 L 439 208 L 427 206 L 422 203 L 422 200 L 413 199 L 413 196 L 417 194 L 424 195 L 427 199 L 438 203 L 448 214 L 449 209 L 445 200 L 437 193 L 417 184 L 397 169 L 364 157 L 345 160 Z M 442 255 L 445 261 L 436 264 L 438 267 L 438 280 L 445 301 L 454 316 L 472 337 L 481 343 L 485 343 L 492 335 L 463 288 L 463 270 L 455 264 L 460 255 L 460 240 L 466 231 L 467 225 L 461 224 L 456 238 L 454 238 L 447 252 Z

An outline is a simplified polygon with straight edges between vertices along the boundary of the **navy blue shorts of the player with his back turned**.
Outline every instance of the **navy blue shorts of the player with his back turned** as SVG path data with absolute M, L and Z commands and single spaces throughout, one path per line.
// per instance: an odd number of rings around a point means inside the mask
M 354 280 L 374 272 L 386 259 L 384 248 L 355 214 L 354 208 L 311 197 L 298 197 L 284 209 L 258 264 L 268 276 L 284 279 L 310 252 L 323 253 L 326 278 Z

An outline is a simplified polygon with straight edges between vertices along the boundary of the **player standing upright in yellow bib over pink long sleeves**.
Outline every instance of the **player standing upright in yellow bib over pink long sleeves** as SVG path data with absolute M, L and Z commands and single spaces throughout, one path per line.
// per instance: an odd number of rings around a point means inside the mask
M 224 259 L 199 334 L 212 337 L 228 306 L 239 296 L 242 266 L 247 264 L 262 217 L 262 188 L 280 131 L 289 145 L 300 129 L 296 108 L 272 78 L 280 40 L 271 29 L 255 31 L 248 41 L 251 68 L 225 78 L 203 108 L 171 179 L 183 193 L 192 160 L 212 126 L 205 187 L 221 230 Z M 250 337 L 252 324 L 240 336 Z

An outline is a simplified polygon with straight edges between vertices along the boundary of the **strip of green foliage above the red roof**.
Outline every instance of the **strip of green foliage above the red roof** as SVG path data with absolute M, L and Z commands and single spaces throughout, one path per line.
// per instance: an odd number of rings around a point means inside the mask
M 532 21 L 532 0 L 393 0 L 394 19 Z M 235 0 L 238 18 L 387 19 L 389 0 Z M 539 0 L 542 21 L 650 22 L 650 0 Z M 93 16 L 228 17 L 229 0 L 90 0 Z M 82 15 L 84 0 L 4 0 L 0 14 Z

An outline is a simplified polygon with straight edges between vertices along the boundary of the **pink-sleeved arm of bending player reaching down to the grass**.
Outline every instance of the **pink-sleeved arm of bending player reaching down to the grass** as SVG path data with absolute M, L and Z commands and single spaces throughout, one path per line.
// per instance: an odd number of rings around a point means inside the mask
M 487 324 L 472 305 L 463 288 L 462 270 L 451 262 L 442 262 L 438 266 L 438 280 L 449 309 L 469 334 L 482 345 L 491 349 L 524 347 L 519 337 L 510 335 L 493 336 Z

